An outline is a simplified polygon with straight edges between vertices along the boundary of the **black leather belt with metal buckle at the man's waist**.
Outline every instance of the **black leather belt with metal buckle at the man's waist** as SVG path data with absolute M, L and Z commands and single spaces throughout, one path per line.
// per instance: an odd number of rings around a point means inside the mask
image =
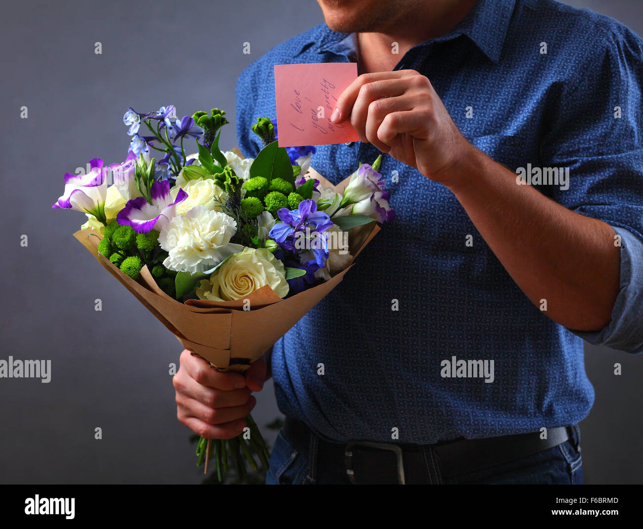
M 368 441 L 336 443 L 287 417 L 284 435 L 299 451 L 308 452 L 314 441 L 318 464 L 345 476 L 347 483 L 410 484 L 437 483 L 438 475 L 449 478 L 537 454 L 572 438 L 573 427 L 548 429 L 547 439 L 535 432 L 420 446 Z

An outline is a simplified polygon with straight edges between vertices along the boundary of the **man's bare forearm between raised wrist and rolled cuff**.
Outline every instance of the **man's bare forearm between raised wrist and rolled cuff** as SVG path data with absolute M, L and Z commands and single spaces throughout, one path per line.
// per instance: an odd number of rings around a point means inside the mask
M 471 147 L 444 182 L 512 279 L 555 322 L 599 331 L 619 293 L 610 225 L 570 211 Z

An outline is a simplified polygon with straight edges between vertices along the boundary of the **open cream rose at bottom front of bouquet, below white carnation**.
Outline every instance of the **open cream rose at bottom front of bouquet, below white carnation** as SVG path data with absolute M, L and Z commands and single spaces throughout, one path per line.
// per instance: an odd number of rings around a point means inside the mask
M 266 285 L 280 298 L 287 295 L 284 264 L 266 248 L 244 248 L 215 270 L 210 279 L 202 280 L 196 293 L 200 299 L 230 301 Z

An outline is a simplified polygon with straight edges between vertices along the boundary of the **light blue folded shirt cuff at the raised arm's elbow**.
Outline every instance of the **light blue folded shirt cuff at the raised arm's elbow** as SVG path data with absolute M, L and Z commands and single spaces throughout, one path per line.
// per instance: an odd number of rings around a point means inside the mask
M 620 292 L 611 322 L 601 331 L 568 329 L 592 345 L 638 354 L 643 352 L 643 241 L 629 230 L 612 226 L 620 236 Z

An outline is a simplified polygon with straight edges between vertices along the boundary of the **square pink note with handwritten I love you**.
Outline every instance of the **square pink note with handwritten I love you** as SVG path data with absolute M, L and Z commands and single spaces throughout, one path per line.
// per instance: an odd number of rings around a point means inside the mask
M 354 62 L 275 65 L 279 146 L 359 141 L 348 121 L 331 121 L 337 98 L 357 76 Z

